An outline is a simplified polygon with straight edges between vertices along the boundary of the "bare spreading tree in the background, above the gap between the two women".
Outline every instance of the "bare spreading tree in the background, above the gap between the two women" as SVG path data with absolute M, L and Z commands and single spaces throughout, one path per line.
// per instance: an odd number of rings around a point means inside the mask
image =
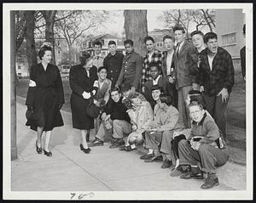
M 71 14 L 72 12 L 72 14 Z M 68 17 L 65 17 L 68 16 Z M 55 20 L 55 35 L 58 38 L 64 38 L 68 47 L 68 58 L 73 62 L 73 44 L 82 36 L 85 31 L 101 25 L 108 18 L 107 11 L 84 10 L 58 11 Z

